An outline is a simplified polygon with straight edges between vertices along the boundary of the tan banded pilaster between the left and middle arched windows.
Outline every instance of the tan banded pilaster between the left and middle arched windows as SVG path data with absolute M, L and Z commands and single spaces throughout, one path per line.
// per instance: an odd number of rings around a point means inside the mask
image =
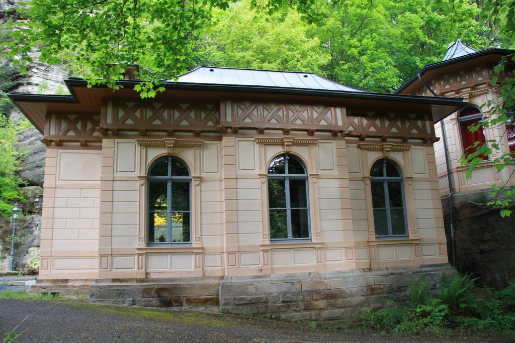
M 238 215 L 236 196 L 236 139 L 222 138 L 222 190 L 224 194 L 224 260 L 227 269 L 238 267 Z

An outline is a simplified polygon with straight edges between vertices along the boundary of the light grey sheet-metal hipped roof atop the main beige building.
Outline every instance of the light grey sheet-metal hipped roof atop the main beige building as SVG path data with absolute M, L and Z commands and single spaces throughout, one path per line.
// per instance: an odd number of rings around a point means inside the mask
M 168 80 L 175 83 L 174 80 Z M 314 73 L 200 66 L 178 77 L 177 83 L 259 86 L 322 91 L 363 92 Z

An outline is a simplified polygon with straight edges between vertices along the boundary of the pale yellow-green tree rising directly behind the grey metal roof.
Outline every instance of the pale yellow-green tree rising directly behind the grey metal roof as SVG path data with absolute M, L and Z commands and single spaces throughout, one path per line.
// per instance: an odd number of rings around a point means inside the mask
M 306 36 L 308 25 L 294 10 L 258 15 L 244 0 L 214 17 L 204 52 L 209 64 L 323 74 L 321 67 L 330 60 L 319 39 Z

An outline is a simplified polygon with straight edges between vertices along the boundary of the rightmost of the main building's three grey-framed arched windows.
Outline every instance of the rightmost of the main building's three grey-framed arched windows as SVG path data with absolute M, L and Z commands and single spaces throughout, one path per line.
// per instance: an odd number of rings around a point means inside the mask
M 406 206 L 402 174 L 386 158 L 377 160 L 370 170 L 375 237 L 407 237 Z

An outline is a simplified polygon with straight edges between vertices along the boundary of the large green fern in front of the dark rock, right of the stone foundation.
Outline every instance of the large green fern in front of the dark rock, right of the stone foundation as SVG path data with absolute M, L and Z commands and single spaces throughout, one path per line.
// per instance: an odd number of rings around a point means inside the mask
M 472 279 L 469 274 L 455 275 L 452 278 L 443 276 L 442 289 L 437 296 L 455 314 L 475 310 L 476 298 L 470 290 L 476 280 L 477 278 Z

